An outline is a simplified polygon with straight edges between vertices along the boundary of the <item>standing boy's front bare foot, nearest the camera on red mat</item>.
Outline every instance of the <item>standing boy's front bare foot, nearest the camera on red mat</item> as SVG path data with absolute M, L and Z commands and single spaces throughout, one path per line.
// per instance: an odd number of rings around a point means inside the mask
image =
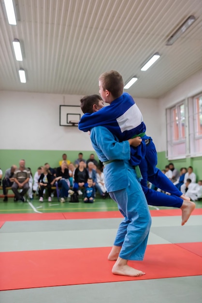
M 115 265 L 112 268 L 112 273 L 118 275 L 127 275 L 130 277 L 140 277 L 145 274 L 142 271 L 130 267 L 129 265 L 127 265 L 127 262 L 128 260 L 118 257 L 117 261 L 115 262 Z

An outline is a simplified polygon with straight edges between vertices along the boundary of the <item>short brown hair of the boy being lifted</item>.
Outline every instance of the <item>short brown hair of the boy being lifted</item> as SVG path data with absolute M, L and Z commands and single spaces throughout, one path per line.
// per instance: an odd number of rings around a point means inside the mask
M 118 98 L 123 93 L 124 81 L 117 71 L 109 71 L 99 77 L 104 91 L 110 91 L 114 98 Z

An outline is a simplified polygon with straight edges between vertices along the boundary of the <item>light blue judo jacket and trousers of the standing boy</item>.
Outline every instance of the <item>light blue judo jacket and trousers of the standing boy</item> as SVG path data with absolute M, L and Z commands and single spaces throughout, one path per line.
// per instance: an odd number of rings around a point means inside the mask
M 128 141 L 118 142 L 118 139 L 102 126 L 91 129 L 90 138 L 101 162 L 110 160 L 103 171 L 105 185 L 124 216 L 114 242 L 114 245 L 122 246 L 119 257 L 126 260 L 143 260 L 151 216 L 136 172 L 129 163 L 130 144 Z

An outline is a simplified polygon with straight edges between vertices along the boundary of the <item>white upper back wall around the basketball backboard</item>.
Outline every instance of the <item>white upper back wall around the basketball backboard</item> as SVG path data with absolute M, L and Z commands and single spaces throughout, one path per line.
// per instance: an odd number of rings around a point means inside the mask
M 87 133 L 59 126 L 59 105 L 80 105 L 82 96 L 0 91 L 0 149 L 92 150 Z M 134 98 L 147 125 L 159 137 L 158 101 Z

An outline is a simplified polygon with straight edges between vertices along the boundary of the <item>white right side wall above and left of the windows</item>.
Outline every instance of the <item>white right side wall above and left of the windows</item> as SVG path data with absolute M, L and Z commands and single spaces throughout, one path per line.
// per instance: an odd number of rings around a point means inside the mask
M 193 97 L 202 92 L 202 70 L 180 83 L 172 91 L 159 98 L 160 138 L 158 152 L 166 150 L 166 108 L 172 107 L 185 98 Z

